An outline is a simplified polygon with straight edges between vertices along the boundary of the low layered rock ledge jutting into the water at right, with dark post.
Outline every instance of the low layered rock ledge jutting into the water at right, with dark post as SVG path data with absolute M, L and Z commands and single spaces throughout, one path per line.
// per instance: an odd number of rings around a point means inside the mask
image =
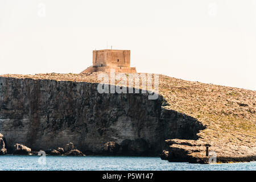
M 220 151 L 214 151 L 216 147 L 200 140 L 168 139 L 165 142 L 167 149 L 163 150 L 160 158 L 168 160 L 168 162 L 211 164 L 251 162 L 256 160 L 256 155 L 221 155 L 223 153 Z M 234 150 L 234 148 L 228 148 L 227 150 Z

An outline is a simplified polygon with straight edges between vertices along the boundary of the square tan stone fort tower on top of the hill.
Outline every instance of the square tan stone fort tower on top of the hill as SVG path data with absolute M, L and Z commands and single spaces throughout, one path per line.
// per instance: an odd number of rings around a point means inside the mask
M 103 49 L 93 51 L 93 65 L 82 71 L 89 72 L 136 73 L 135 67 L 130 67 L 130 50 Z

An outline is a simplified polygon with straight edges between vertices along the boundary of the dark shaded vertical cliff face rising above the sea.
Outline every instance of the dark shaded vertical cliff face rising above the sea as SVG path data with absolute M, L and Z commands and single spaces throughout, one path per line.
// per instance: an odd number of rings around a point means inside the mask
M 113 141 L 119 154 L 158 155 L 165 139 L 196 139 L 204 128 L 195 118 L 163 109 L 163 97 L 100 94 L 97 85 L 0 77 L 0 133 L 7 146 L 47 150 L 73 142 L 85 154 L 101 154 Z

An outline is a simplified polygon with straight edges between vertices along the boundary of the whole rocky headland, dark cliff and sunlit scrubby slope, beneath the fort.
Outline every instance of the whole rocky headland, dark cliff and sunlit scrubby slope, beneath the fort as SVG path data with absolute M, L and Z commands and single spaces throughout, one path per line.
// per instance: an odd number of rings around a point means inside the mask
M 159 75 L 160 97 L 148 100 L 99 94 L 98 74 L 0 76 L 5 146 L 73 142 L 85 154 L 158 155 L 164 148 L 170 162 L 256 160 L 256 91 Z

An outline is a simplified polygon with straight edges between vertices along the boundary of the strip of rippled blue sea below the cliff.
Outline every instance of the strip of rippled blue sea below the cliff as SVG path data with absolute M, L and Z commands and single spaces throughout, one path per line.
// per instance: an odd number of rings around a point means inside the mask
M 40 156 L 0 156 L 0 170 L 256 170 L 256 162 L 189 164 L 171 163 L 158 157 L 46 156 L 46 163 L 42 163 L 39 158 L 42 159 Z

